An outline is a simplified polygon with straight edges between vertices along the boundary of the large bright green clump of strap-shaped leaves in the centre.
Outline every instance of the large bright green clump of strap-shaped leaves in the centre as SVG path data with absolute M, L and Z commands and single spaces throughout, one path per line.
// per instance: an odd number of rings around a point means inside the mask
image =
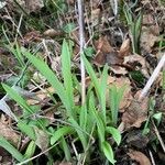
M 43 59 L 32 55 L 26 50 L 22 50 L 21 53 L 47 79 L 48 84 L 55 89 L 55 92 L 61 98 L 62 106 L 59 108 L 65 109 L 65 114 L 62 117 L 62 121 L 57 123 L 57 128 L 50 127 L 47 120 L 44 120 L 42 116 L 38 118 L 37 113 L 40 111 L 40 107 L 28 105 L 26 100 L 13 88 L 2 84 L 8 95 L 23 109 L 22 116 L 16 117 L 18 128 L 31 139 L 31 143 L 26 148 L 24 158 L 33 156 L 36 145 L 43 150 L 40 139 L 41 136 L 44 136 L 44 145 L 46 144 L 45 147 L 54 146 L 55 143 L 58 142 L 58 145 L 55 145 L 54 150 L 59 151 L 56 153 L 63 153 L 65 158 L 70 161 L 73 153 L 70 152 L 72 146 L 67 139 L 67 136 L 69 136 L 73 141 L 77 141 L 78 143 L 80 142 L 82 150 L 79 154 L 85 162 L 90 161 L 90 153 L 92 152 L 90 146 L 94 145 L 94 142 L 99 140 L 99 148 L 102 160 L 105 160 L 106 156 L 110 163 L 114 164 L 114 151 L 107 139 L 111 136 L 118 145 L 121 142 L 121 134 L 113 125 L 117 125 L 118 122 L 118 109 L 124 88 L 117 90 L 117 87 L 112 86 L 109 89 L 107 86 L 108 66 L 106 65 L 103 67 L 102 74 L 100 74 L 100 78 L 98 78 L 91 67 L 91 64 L 87 61 L 85 55 L 82 55 L 86 69 L 91 79 L 91 85 L 87 88 L 87 102 L 79 107 L 76 106 L 74 101 L 74 82 L 77 85 L 79 85 L 79 82 L 72 73 L 70 47 L 65 40 L 62 48 L 63 82 Z M 74 77 L 75 80 L 73 80 Z M 105 96 L 107 90 L 110 92 L 111 111 L 107 111 Z M 6 148 L 6 146 L 3 147 Z M 52 158 L 50 156 L 50 161 L 51 160 Z M 18 161 L 21 162 L 22 160 L 19 158 Z

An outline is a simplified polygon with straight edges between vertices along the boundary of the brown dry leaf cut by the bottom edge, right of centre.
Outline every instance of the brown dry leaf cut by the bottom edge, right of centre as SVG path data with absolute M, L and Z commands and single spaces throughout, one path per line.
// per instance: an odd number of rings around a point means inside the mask
M 150 160 L 142 152 L 130 150 L 128 155 L 140 165 L 152 165 Z

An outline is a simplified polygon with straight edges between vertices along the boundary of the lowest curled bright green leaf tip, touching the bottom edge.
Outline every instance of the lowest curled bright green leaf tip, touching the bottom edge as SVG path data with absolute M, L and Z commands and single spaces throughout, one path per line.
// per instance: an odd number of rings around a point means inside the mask
M 110 163 L 114 164 L 116 160 L 114 160 L 114 154 L 113 154 L 111 145 L 105 141 L 105 142 L 102 142 L 101 146 L 102 146 L 102 151 L 105 153 L 105 156 L 108 158 L 108 161 Z

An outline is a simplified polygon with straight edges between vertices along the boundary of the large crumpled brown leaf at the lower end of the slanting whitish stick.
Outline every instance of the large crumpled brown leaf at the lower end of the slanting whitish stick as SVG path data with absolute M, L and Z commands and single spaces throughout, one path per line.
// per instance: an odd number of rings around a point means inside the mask
M 142 101 L 139 101 L 140 92 L 141 91 L 136 92 L 129 108 L 122 114 L 122 122 L 124 123 L 125 130 L 133 127 L 140 128 L 142 122 L 147 119 L 148 98 L 144 98 Z

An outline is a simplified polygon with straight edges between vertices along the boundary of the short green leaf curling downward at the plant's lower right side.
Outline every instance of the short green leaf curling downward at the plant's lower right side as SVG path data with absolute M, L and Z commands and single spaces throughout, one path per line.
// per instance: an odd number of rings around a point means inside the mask
M 118 129 L 112 127 L 107 127 L 106 132 L 112 135 L 113 140 L 117 142 L 118 145 L 121 143 L 121 133 Z

